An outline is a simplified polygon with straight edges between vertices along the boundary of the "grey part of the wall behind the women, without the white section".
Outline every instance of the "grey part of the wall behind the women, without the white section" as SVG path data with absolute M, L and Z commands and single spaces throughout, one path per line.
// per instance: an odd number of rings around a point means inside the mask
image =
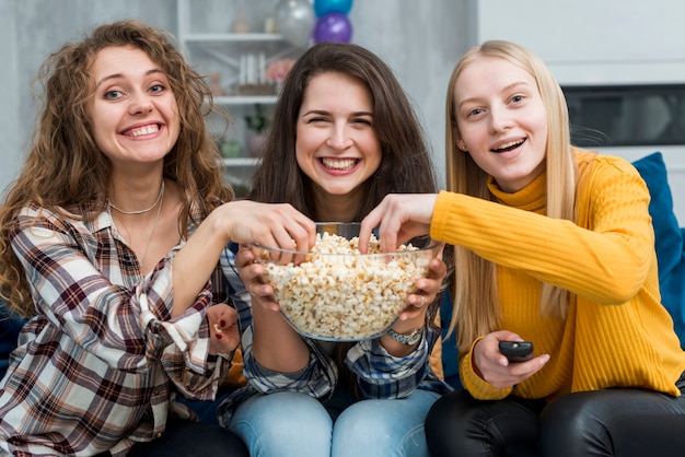
M 253 0 L 208 1 L 217 15 Z M 259 3 L 267 2 L 260 0 Z M 276 0 L 271 0 L 276 4 Z M 356 0 L 352 42 L 379 54 L 416 103 L 443 172 L 444 93 L 468 46 L 468 0 Z M 198 2 L 205 4 L 205 2 Z M 227 14 L 228 15 L 228 14 Z M 126 17 L 177 33 L 176 0 L 0 0 L 0 190 L 16 176 L 35 122 L 31 80 L 44 57 L 93 25 Z

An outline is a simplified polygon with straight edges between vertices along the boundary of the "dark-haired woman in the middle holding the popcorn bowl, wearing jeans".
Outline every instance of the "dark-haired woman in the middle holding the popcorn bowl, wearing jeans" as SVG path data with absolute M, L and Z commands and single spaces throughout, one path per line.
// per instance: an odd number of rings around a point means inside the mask
M 292 203 L 315 221 L 359 222 L 388 192 L 437 189 L 408 97 L 361 46 L 307 49 L 288 74 L 272 126 L 254 174 L 257 201 Z M 252 293 L 252 306 L 236 303 L 249 385 L 220 408 L 222 423 L 253 456 L 427 456 L 423 420 L 449 390 L 429 363 L 445 262 L 431 260 L 391 330 L 328 342 L 293 330 L 253 259 L 249 250 L 235 259 Z

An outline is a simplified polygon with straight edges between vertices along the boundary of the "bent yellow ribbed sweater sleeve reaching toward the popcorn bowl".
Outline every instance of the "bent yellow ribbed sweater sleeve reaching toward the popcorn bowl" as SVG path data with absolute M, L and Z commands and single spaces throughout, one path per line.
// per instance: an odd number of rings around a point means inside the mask
M 580 225 L 442 191 L 431 236 L 588 300 L 624 303 L 645 283 L 653 255 L 649 192 L 627 162 L 595 161 L 578 186 Z

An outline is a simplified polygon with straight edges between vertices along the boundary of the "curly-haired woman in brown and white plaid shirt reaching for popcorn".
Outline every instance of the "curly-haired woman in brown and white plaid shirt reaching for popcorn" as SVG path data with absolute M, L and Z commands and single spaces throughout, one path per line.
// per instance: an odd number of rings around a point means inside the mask
M 0 208 L 0 291 L 28 319 L 0 383 L 0 449 L 246 456 L 174 399 L 212 399 L 239 343 L 222 249 L 307 246 L 313 222 L 232 201 L 209 89 L 167 32 L 101 25 L 39 77 L 33 145 Z

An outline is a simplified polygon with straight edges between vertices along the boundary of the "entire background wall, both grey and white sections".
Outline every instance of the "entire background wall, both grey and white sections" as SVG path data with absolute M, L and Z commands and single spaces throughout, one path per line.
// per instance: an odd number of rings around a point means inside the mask
M 194 0 L 218 22 L 276 0 Z M 685 4 L 672 0 L 356 0 L 352 42 L 395 70 L 433 147 L 443 174 L 444 93 L 454 62 L 486 38 L 531 47 L 564 83 L 682 82 Z M 30 81 L 44 56 L 92 25 L 139 17 L 176 33 L 175 0 L 0 0 L 0 190 L 19 171 L 34 125 Z M 228 26 L 228 25 L 227 25 Z M 664 152 L 676 214 L 685 221 L 685 145 L 622 149 L 626 157 Z

